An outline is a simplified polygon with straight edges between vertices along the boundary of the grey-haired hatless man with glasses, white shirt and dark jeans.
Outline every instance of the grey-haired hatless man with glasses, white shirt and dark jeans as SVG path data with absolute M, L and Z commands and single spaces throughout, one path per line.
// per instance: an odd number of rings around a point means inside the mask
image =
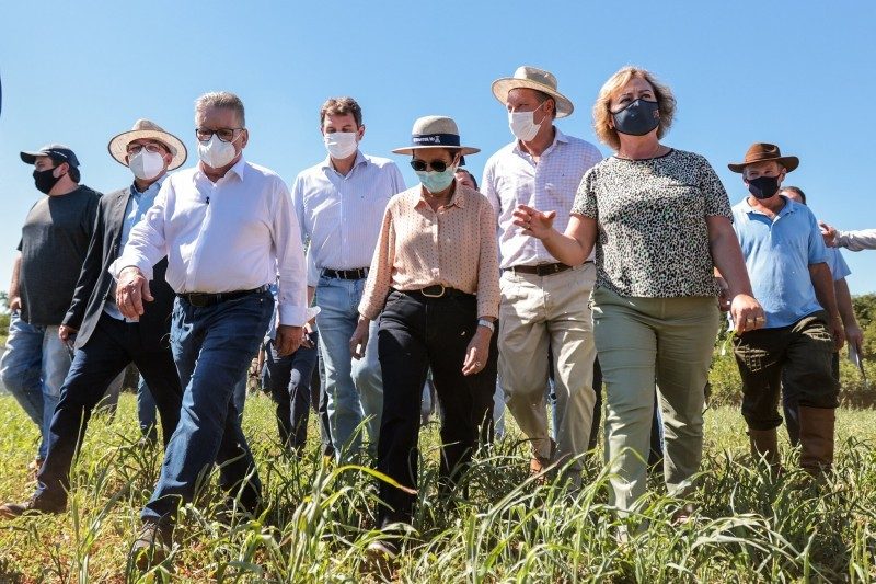
M 165 255 L 176 293 L 170 342 L 183 408 L 141 513 L 132 549 L 141 569 L 163 560 L 177 506 L 194 499 L 214 462 L 227 511 L 256 512 L 262 484 L 232 393 L 267 331 L 269 285 L 278 274 L 280 355 L 298 348 L 307 320 L 304 254 L 289 190 L 273 171 L 244 160 L 243 102 L 229 92 L 201 95 L 195 124 L 200 163 L 164 181 L 111 266 L 126 318 L 139 318 L 153 301 L 152 266 Z

